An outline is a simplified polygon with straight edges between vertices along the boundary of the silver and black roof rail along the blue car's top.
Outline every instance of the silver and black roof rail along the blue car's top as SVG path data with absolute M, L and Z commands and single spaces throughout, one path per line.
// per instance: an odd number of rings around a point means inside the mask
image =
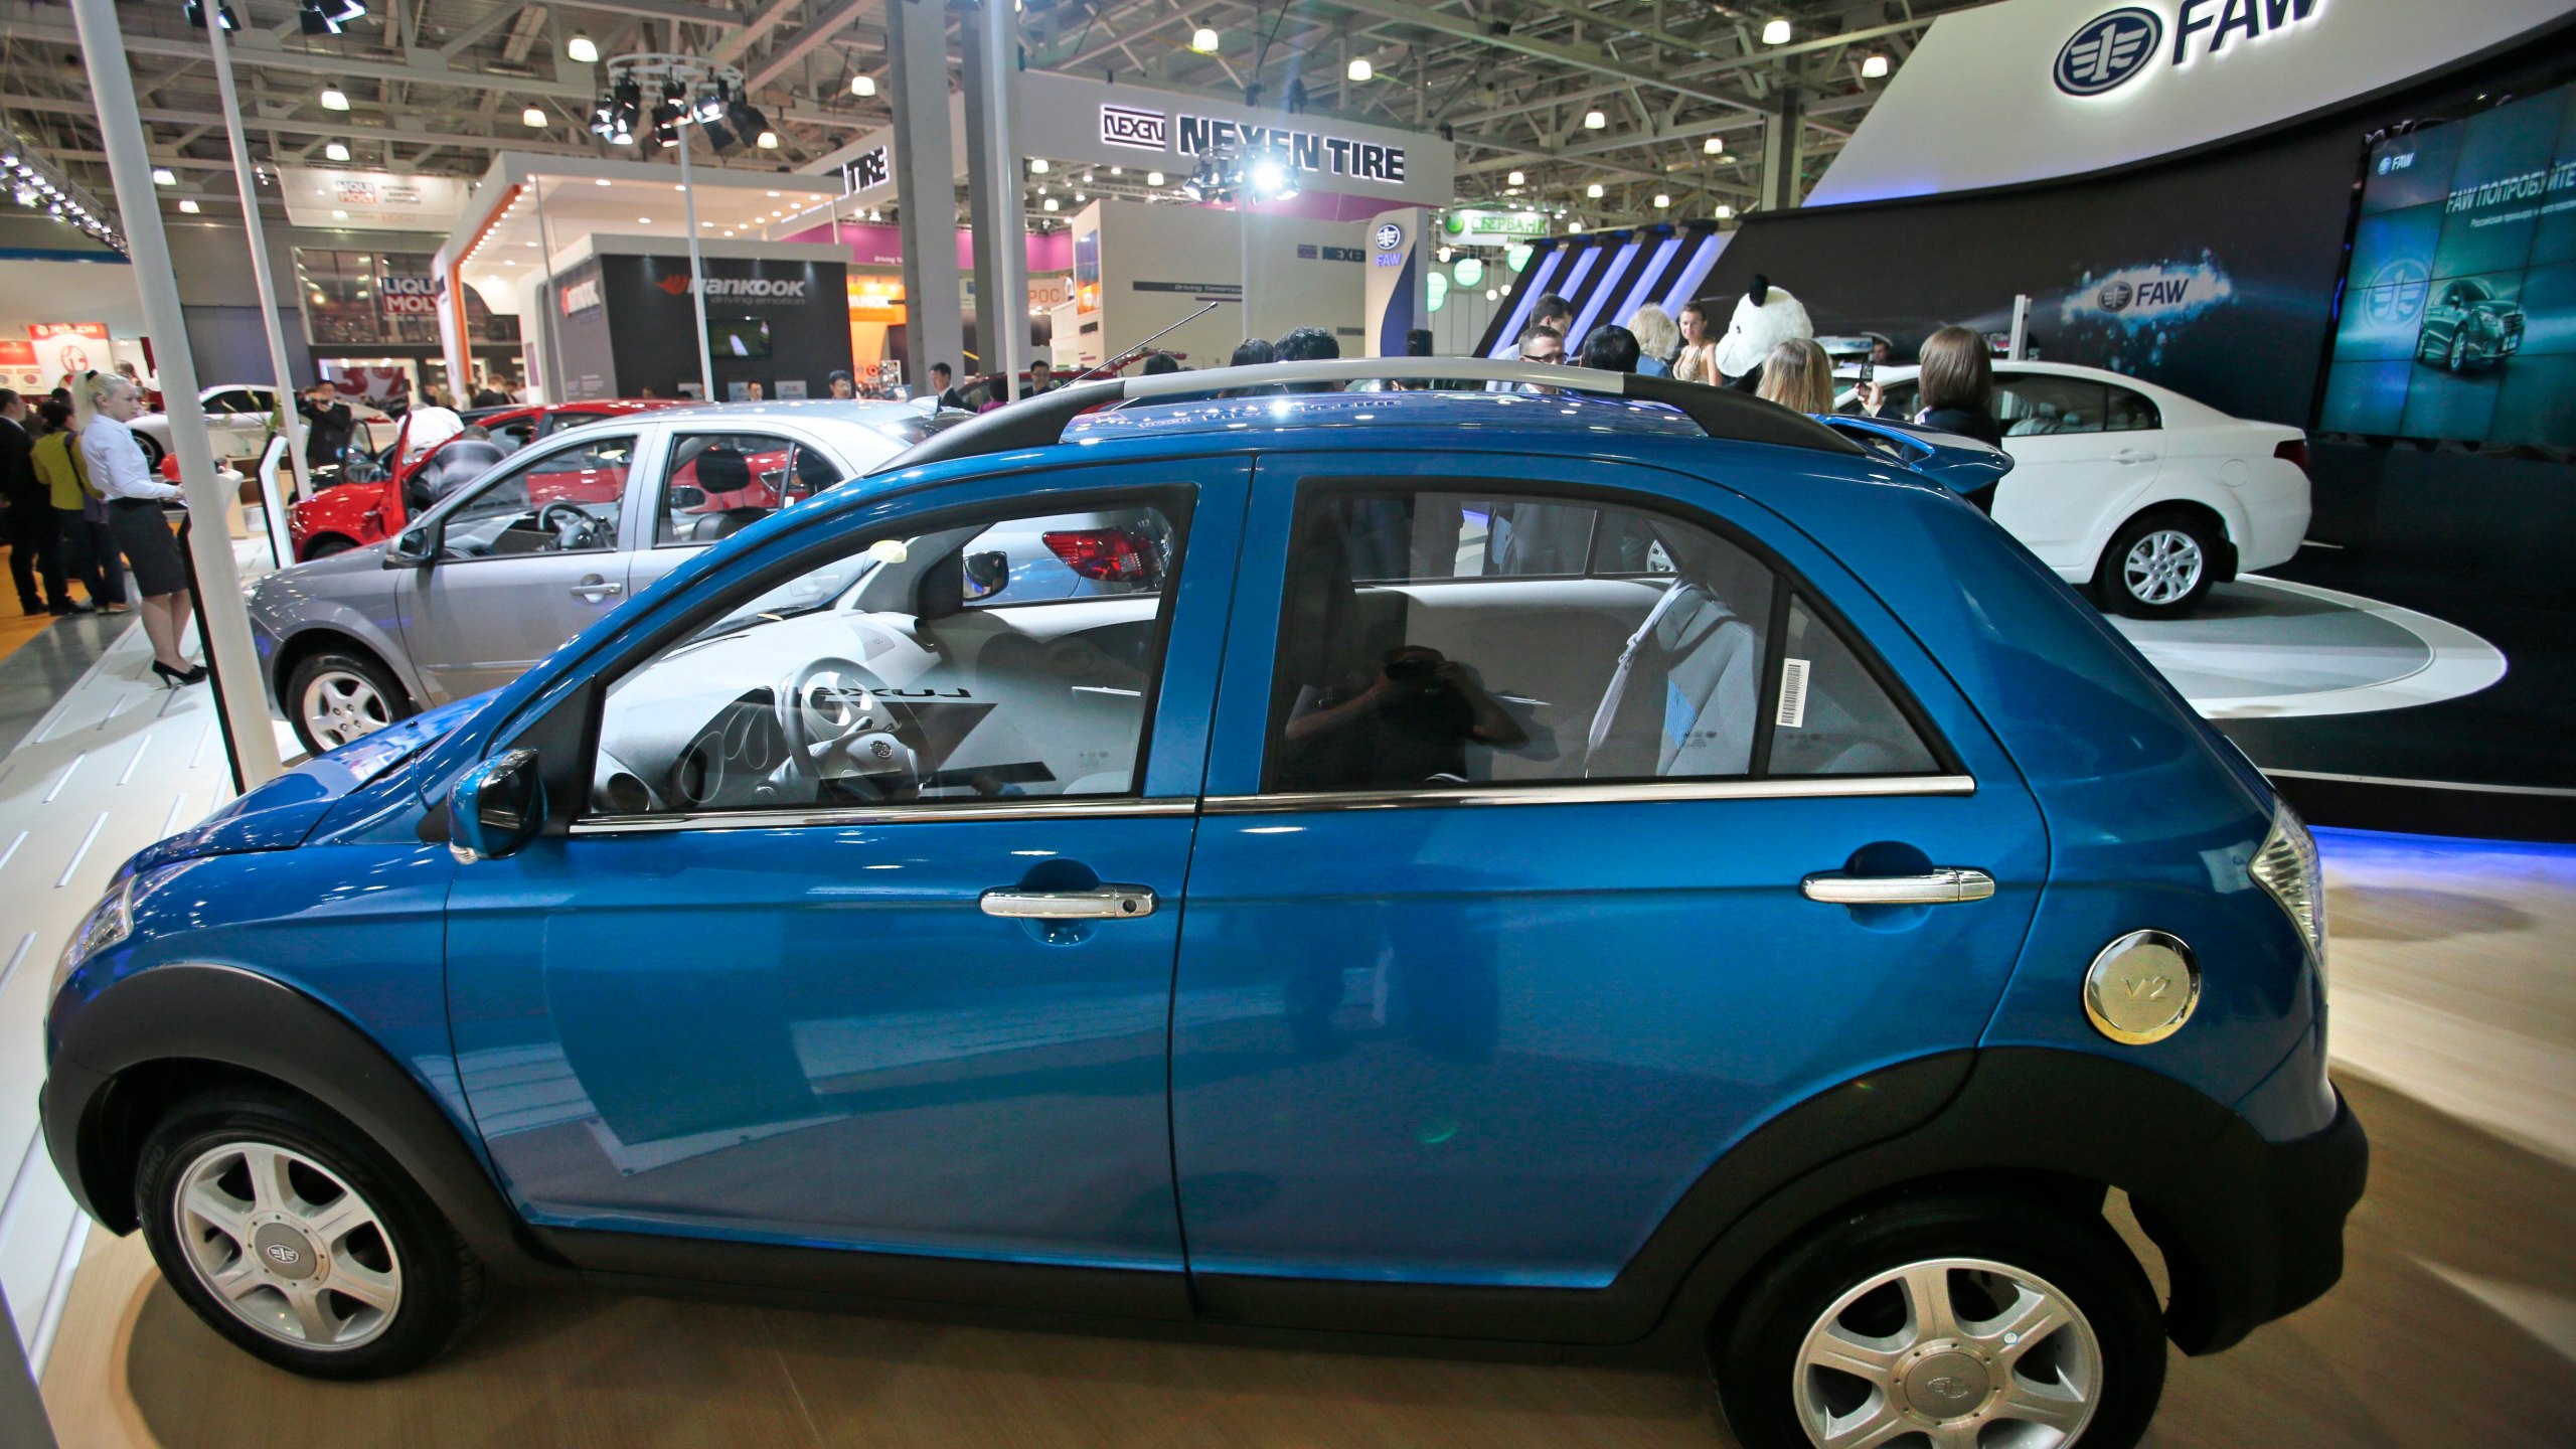
M 1020 449 L 1048 449 L 1064 441 L 1064 428 L 1095 407 L 1121 402 L 1151 402 L 1157 397 L 1206 397 L 1278 384 L 1311 382 L 1368 382 L 1368 379 L 1422 379 L 1422 382 L 1510 382 L 1546 387 L 1553 392 L 1579 392 L 1592 397 L 1636 397 L 1664 402 L 1710 438 L 1741 443 L 1780 443 L 1788 449 L 1816 449 L 1826 454 L 1860 454 L 1860 443 L 1816 423 L 1806 413 L 1790 413 L 1777 402 L 1762 402 L 1749 392 L 1708 387 L 1700 382 L 1674 382 L 1669 376 L 1641 376 L 1631 371 L 1600 371 L 1589 366 L 1484 361 L 1484 358 L 1329 358 L 1288 361 L 1262 366 L 1216 366 L 1206 371 L 1167 371 L 1157 376 L 1110 376 L 1103 382 L 1077 382 L 1023 397 L 935 433 L 873 472 L 896 472 L 948 459 L 976 459 Z

